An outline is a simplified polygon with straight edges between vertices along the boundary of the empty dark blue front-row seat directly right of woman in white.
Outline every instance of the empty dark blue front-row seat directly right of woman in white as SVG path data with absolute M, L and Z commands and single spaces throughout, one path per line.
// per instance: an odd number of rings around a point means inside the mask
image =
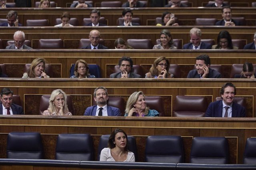
M 182 163 L 184 160 L 180 136 L 148 136 L 145 162 Z

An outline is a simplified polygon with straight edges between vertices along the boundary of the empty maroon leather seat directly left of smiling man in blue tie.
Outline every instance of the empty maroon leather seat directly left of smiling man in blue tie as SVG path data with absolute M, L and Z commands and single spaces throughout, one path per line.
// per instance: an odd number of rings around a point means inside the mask
M 204 117 L 207 107 L 204 96 L 176 96 L 172 117 Z

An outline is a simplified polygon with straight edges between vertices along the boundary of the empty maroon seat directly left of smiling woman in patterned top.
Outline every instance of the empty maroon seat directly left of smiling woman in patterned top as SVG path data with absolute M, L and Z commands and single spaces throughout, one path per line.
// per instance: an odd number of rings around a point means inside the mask
M 134 49 L 152 49 L 150 39 L 128 39 L 127 44 Z

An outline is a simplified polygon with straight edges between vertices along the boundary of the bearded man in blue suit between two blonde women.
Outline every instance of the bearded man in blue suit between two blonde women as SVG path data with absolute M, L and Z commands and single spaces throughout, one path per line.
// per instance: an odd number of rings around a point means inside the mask
M 121 116 L 118 108 L 108 106 L 108 91 L 104 87 L 97 87 L 94 90 L 94 100 L 97 105 L 87 107 L 84 116 Z

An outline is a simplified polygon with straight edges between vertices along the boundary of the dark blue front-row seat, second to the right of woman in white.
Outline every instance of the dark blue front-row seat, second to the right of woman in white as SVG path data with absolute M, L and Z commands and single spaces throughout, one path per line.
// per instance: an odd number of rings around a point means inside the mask
M 190 163 L 228 164 L 228 140 L 225 137 L 193 138 Z

